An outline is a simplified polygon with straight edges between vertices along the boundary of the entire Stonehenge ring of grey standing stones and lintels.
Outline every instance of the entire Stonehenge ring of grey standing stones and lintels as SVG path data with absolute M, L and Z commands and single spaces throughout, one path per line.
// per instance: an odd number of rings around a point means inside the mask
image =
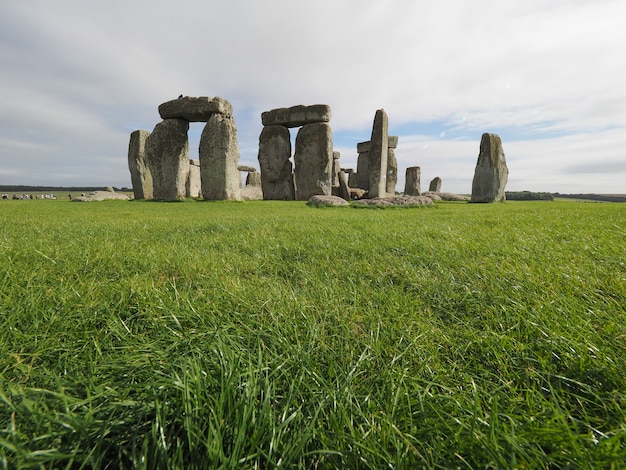
M 232 105 L 219 97 L 180 96 L 158 106 L 162 121 L 153 131 L 130 134 L 128 167 L 135 199 L 310 200 L 334 196 L 344 200 L 384 199 L 395 196 L 398 182 L 398 137 L 388 134 L 388 116 L 376 110 L 370 140 L 357 144 L 356 171 L 342 168 L 333 148 L 328 105 L 297 105 L 261 114 L 260 171 L 240 166 L 237 128 Z M 198 160 L 189 158 L 189 125 L 204 123 Z M 299 128 L 292 154 L 290 129 Z M 241 172 L 246 172 L 245 188 Z M 421 168 L 406 168 L 404 196 L 467 200 L 441 192 L 441 178 L 422 192 Z M 508 168 L 502 142 L 483 134 L 472 181 L 470 202 L 505 200 Z M 243 194 L 245 189 L 245 195 Z

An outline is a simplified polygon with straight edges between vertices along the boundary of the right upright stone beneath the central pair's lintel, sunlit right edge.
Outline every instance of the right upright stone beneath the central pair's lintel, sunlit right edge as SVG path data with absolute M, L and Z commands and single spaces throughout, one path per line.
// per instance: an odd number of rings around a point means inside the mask
M 296 199 L 332 194 L 333 136 L 325 122 L 306 124 L 296 136 Z

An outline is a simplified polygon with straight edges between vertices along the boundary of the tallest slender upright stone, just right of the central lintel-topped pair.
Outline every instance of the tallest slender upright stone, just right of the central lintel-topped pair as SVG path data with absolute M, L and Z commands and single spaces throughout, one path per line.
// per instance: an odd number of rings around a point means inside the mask
M 372 138 L 370 139 L 370 150 L 367 160 L 367 170 L 369 173 L 370 199 L 385 197 L 387 193 L 386 171 L 388 146 L 388 117 L 384 109 L 376 111 L 374 125 L 372 126 Z

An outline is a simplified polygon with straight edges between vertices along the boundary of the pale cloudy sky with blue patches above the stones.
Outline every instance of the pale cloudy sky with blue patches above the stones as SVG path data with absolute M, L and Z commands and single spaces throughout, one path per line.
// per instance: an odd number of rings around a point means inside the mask
M 184 94 L 230 101 L 242 165 L 263 111 L 322 103 L 344 168 L 386 111 L 398 191 L 419 166 L 470 193 L 489 132 L 508 191 L 623 194 L 625 20 L 624 0 L 0 0 L 0 185 L 131 187 L 130 133 Z

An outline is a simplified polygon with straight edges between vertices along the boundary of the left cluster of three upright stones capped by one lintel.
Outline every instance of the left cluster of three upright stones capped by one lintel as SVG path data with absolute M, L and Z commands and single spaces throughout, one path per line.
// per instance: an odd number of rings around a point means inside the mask
M 219 97 L 179 97 L 158 107 L 163 119 L 150 133 L 131 133 L 128 167 L 135 199 L 186 197 L 238 200 L 239 144 L 231 104 Z M 189 159 L 189 123 L 204 122 L 200 160 Z

